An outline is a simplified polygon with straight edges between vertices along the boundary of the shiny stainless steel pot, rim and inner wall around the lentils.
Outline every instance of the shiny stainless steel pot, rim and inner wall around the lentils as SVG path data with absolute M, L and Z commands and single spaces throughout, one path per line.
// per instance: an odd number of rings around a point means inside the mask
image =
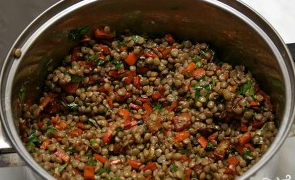
M 77 4 L 74 4 L 77 3 Z M 276 32 L 238 1 L 88 0 L 62 1 L 44 12 L 19 37 L 2 67 L 1 118 L 12 145 L 37 173 L 53 179 L 29 155 L 18 136 L 18 92 L 26 87 L 36 99 L 48 63 L 57 65 L 74 45 L 67 33 L 81 26 L 110 25 L 151 35 L 172 33 L 179 39 L 205 41 L 223 61 L 244 64 L 276 107 L 279 133 L 268 152 L 239 179 L 248 179 L 277 152 L 294 119 L 294 64 Z M 20 48 L 22 57 L 13 56 Z

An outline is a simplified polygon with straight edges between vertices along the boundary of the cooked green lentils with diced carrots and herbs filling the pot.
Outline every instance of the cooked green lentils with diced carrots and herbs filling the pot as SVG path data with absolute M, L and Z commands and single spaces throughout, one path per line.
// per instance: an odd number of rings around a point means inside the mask
M 25 101 L 29 102 L 29 101 Z M 24 104 L 28 151 L 57 179 L 234 179 L 277 133 L 269 96 L 206 43 L 106 26 Z

